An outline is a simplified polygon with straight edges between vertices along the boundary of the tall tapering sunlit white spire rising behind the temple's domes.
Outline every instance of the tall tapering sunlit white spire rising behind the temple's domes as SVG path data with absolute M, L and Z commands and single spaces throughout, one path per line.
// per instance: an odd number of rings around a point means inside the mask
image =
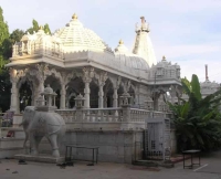
M 149 25 L 146 23 L 145 17 L 140 17 L 141 24 L 136 24 L 136 39 L 133 53 L 143 57 L 149 66 L 157 63 L 154 48 L 149 38 Z

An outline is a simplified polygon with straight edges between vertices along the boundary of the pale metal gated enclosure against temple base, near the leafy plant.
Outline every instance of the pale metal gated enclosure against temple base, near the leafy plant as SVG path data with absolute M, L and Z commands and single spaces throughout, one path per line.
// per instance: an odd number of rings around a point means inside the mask
M 146 119 L 145 157 L 147 159 L 169 160 L 170 151 L 170 119 Z

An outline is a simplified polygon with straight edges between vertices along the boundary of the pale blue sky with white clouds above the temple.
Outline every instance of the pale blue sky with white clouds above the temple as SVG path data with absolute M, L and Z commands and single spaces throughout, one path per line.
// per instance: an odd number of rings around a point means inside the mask
M 27 30 L 35 19 L 51 31 L 65 27 L 73 13 L 112 49 L 122 39 L 128 49 L 135 24 L 144 15 L 157 56 L 181 67 L 181 76 L 197 74 L 221 83 L 221 0 L 0 0 L 10 32 Z

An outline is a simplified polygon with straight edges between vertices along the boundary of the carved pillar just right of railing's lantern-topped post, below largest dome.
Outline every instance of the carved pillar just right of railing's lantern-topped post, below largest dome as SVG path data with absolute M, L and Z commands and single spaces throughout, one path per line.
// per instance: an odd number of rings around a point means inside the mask
M 92 82 L 92 77 L 94 77 L 94 67 L 84 67 L 83 69 L 83 82 L 84 82 L 84 107 L 90 108 L 90 83 Z

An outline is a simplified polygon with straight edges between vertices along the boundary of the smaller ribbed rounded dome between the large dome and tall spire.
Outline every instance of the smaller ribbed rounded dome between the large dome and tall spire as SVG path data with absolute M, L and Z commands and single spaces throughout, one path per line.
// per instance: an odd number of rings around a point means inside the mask
M 138 71 L 149 70 L 147 62 L 143 57 L 129 52 L 122 40 L 119 41 L 118 46 L 115 49 L 115 56 L 119 63 L 124 64 L 125 66 Z

